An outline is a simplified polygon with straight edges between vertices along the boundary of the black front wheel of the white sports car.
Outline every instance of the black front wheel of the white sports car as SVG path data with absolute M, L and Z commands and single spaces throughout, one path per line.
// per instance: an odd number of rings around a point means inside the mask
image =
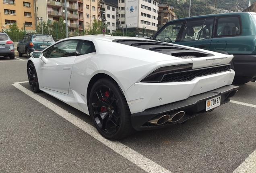
M 34 93 L 38 93 L 40 90 L 37 79 L 37 72 L 35 70 L 33 62 L 29 62 L 29 65 L 27 66 L 27 76 L 29 78 L 30 88 Z

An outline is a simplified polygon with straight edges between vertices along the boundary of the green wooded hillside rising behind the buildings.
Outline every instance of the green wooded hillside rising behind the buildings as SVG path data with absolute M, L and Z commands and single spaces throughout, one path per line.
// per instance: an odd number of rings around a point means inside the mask
M 256 0 L 251 0 L 251 4 Z M 226 4 L 229 3 L 229 4 Z M 190 16 L 217 13 L 217 9 L 235 11 L 236 0 L 191 0 Z M 237 0 L 237 11 L 243 11 L 248 7 L 249 0 Z M 161 4 L 168 4 L 174 7 L 174 12 L 178 18 L 188 17 L 189 0 L 161 0 Z M 214 8 L 215 4 L 215 8 Z

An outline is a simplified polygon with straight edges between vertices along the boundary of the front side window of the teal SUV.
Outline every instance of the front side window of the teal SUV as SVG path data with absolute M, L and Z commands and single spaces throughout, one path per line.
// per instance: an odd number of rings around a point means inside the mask
M 165 28 L 161 29 L 161 32 L 156 36 L 155 40 L 162 42 L 175 42 L 182 24 L 183 21 L 166 25 Z

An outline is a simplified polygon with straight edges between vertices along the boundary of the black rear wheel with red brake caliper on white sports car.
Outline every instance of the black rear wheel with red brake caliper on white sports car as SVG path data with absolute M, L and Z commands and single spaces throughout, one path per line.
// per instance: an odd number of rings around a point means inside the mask
M 93 123 L 103 137 L 117 140 L 134 132 L 130 109 L 114 80 L 102 78 L 93 84 L 89 108 Z

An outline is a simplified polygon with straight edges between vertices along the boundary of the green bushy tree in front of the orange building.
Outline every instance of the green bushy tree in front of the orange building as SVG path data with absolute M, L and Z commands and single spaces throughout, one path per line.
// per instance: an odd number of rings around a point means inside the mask
M 15 23 L 9 25 L 9 30 L 6 30 L 6 34 L 8 34 L 12 41 L 22 40 L 25 36 L 24 28 L 22 27 L 21 30 L 19 30 L 19 27 Z

